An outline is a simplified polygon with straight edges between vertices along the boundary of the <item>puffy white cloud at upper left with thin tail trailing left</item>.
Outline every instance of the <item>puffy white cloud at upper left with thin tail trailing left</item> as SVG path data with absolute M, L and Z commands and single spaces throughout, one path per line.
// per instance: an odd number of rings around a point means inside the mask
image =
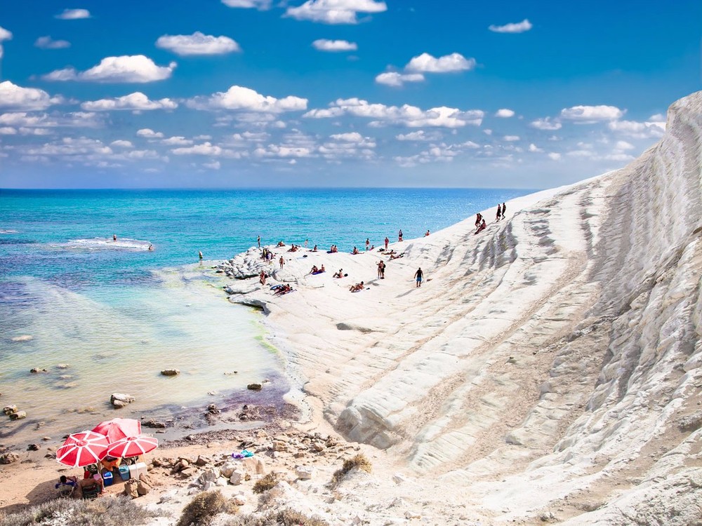
M 124 55 L 103 58 L 100 64 L 84 72 L 67 67 L 56 69 L 42 78 L 47 81 L 145 83 L 169 79 L 173 69 L 176 69 L 176 62 L 171 62 L 168 66 L 157 66 L 144 55 Z

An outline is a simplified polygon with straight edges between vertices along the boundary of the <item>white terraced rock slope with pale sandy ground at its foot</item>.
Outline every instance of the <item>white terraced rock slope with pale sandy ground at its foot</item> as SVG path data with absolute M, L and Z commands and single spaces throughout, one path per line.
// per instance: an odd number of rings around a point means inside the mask
M 499 222 L 483 210 L 479 234 L 467 210 L 429 236 L 394 238 L 398 259 L 287 245 L 270 265 L 258 248 L 223 262 L 237 278 L 230 301 L 265 313 L 298 417 L 151 458 L 227 455 L 251 440 L 265 471 L 286 480 L 269 506 L 334 525 L 697 524 L 701 124 L 695 93 L 629 166 L 508 201 Z M 333 278 L 339 269 L 347 276 Z M 275 295 L 281 283 L 294 291 Z M 373 471 L 330 488 L 357 452 Z M 37 484 L 58 470 L 46 454 L 2 466 L 0 506 L 48 496 Z M 177 514 L 199 490 L 153 471 L 149 506 Z M 242 513 L 256 511 L 258 475 L 223 487 L 244 492 Z

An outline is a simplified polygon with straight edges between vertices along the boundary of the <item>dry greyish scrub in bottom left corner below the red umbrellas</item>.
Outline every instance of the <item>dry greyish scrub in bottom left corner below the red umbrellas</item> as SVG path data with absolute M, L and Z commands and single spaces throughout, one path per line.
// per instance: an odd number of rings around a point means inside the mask
M 0 526 L 71 526 L 143 525 L 157 514 L 147 511 L 131 499 L 74 500 L 55 499 L 30 506 L 17 513 L 0 512 Z

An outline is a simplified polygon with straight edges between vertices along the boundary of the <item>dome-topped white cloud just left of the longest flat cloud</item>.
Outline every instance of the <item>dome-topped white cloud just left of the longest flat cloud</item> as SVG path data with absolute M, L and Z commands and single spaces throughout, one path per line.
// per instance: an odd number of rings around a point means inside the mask
M 251 88 L 232 86 L 226 92 L 211 97 L 195 97 L 187 101 L 194 109 L 245 109 L 250 112 L 298 112 L 307 109 L 307 99 L 289 95 L 282 99 L 260 95 Z

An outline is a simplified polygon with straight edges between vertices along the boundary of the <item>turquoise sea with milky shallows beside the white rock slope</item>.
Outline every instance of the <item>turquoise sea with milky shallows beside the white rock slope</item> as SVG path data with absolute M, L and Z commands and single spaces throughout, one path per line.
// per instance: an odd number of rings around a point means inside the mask
M 257 236 L 349 251 L 530 192 L 0 189 L 0 406 L 27 414 L 0 414 L 0 447 L 116 416 L 177 420 L 266 379 L 289 389 L 263 314 L 228 302 L 212 268 Z M 135 401 L 114 410 L 112 393 Z

